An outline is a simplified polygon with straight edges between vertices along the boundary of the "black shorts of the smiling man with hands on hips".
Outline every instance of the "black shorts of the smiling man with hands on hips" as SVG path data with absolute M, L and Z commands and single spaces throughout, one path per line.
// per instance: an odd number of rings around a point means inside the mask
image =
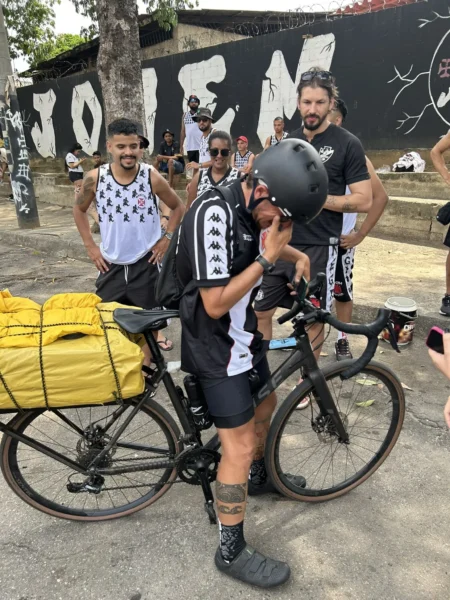
M 160 308 L 155 298 L 158 267 L 148 262 L 152 253 L 132 265 L 109 265 L 107 273 L 100 273 L 95 282 L 96 293 L 102 302 L 120 302 L 151 310 Z

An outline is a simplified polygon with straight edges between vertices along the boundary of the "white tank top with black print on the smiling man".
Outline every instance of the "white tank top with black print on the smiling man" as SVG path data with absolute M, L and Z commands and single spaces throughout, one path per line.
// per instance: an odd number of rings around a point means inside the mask
M 161 238 L 161 221 L 152 192 L 150 166 L 140 163 L 134 181 L 118 183 L 110 165 L 99 168 L 96 204 L 100 250 L 108 262 L 132 265 Z

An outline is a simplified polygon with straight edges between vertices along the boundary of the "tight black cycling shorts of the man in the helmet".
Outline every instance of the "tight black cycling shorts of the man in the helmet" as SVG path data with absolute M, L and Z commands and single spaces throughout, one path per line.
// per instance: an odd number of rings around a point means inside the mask
M 200 379 L 209 412 L 219 429 L 233 429 L 248 423 L 255 415 L 249 374 L 256 371 L 258 387 L 270 379 L 270 368 L 264 356 L 251 370 L 232 377 Z

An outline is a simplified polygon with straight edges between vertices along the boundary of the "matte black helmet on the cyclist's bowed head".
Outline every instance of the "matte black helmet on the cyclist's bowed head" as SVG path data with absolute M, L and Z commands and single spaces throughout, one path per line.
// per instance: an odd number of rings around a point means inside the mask
M 318 152 L 303 140 L 288 138 L 260 154 L 253 177 L 269 189 L 269 200 L 296 223 L 309 223 L 323 208 L 328 175 Z

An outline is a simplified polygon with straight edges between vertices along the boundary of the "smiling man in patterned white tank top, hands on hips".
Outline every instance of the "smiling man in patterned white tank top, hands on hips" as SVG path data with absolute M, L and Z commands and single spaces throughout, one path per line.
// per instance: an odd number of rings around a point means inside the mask
M 183 217 L 184 206 L 159 173 L 139 162 L 141 147 L 148 145 L 134 121 L 110 123 L 108 152 L 113 162 L 87 173 L 73 212 L 88 256 L 100 272 L 96 281 L 100 298 L 152 309 L 157 308 L 158 265 Z M 156 196 L 172 211 L 164 234 Z M 86 214 L 94 200 L 100 246 L 92 237 Z M 148 362 L 149 355 L 146 358 Z

